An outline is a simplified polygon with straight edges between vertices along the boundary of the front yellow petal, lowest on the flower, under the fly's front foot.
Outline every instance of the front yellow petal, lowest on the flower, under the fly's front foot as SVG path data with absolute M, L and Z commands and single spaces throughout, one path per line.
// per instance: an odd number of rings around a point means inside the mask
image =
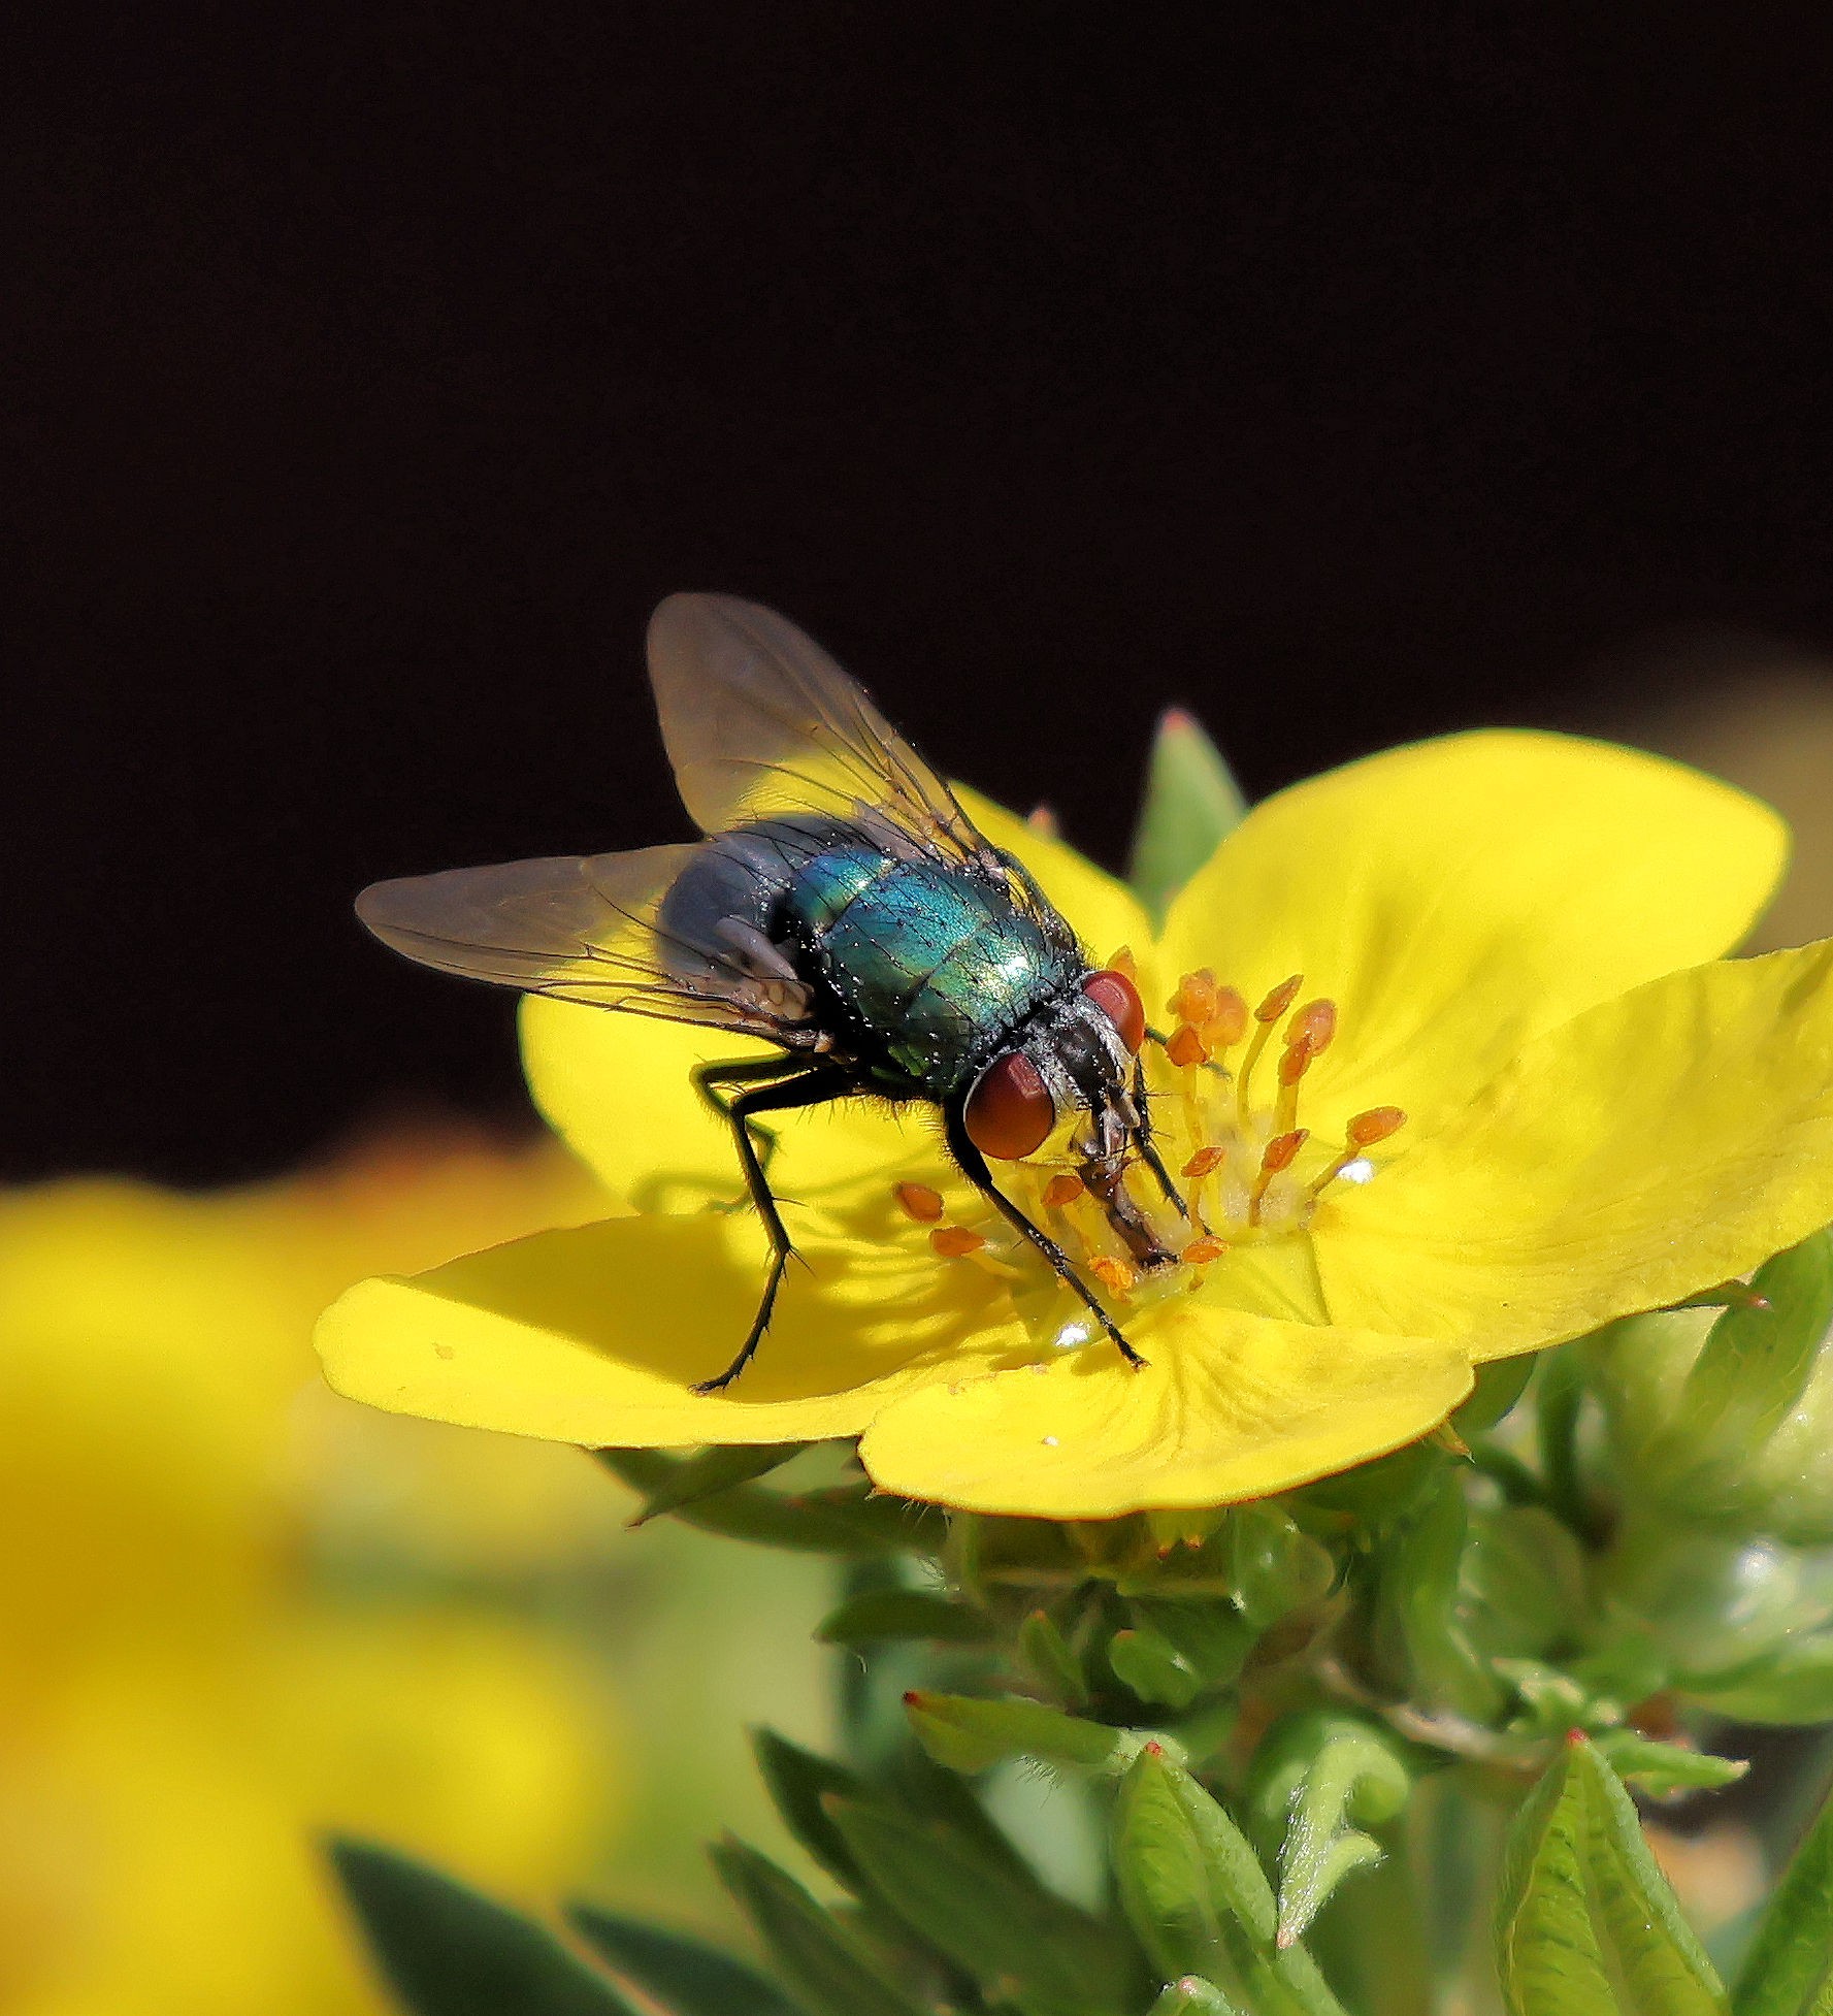
M 1287 1490 L 1381 1456 L 1470 1391 L 1454 1345 L 1274 1322 L 1188 1296 L 1141 1371 L 1089 1349 L 926 1385 L 861 1443 L 885 1490 L 978 1512 L 1109 1518 Z

